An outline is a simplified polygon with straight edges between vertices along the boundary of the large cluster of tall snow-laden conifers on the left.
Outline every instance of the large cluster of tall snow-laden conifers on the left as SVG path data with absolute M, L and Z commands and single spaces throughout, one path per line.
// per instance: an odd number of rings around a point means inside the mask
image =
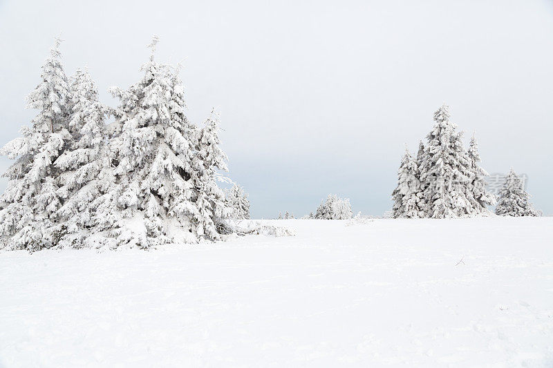
M 99 99 L 86 70 L 66 77 L 59 40 L 28 95 L 39 110 L 21 137 L 1 149 L 15 159 L 0 197 L 1 246 L 140 246 L 217 240 L 225 219 L 249 217 L 241 188 L 227 197 L 218 115 L 202 127 L 185 116 L 179 68 L 154 59 L 130 88 L 111 88 L 118 108 Z M 106 117 L 115 122 L 107 125 Z

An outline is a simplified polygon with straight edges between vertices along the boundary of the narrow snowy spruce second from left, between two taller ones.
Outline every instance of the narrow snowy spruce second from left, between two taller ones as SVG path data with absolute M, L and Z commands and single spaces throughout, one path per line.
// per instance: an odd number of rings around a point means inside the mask
M 73 137 L 55 161 L 64 205 L 57 211 L 58 234 L 62 246 L 81 246 L 84 230 L 93 227 L 93 206 L 97 198 L 97 177 L 106 165 L 105 117 L 108 109 L 100 104 L 97 88 L 86 70 L 77 69 L 70 79 L 71 117 L 68 128 Z

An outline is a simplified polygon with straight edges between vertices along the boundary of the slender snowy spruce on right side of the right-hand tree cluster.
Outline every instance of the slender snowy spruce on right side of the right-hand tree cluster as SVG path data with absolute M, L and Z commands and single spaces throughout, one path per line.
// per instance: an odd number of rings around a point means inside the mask
M 472 192 L 474 213 L 487 214 L 489 213 L 487 206 L 496 204 L 496 198 L 492 193 L 486 191 L 485 177 L 488 173 L 480 167 L 480 153 L 478 153 L 478 143 L 474 135 L 471 137 L 468 154 L 473 174 L 469 187 Z

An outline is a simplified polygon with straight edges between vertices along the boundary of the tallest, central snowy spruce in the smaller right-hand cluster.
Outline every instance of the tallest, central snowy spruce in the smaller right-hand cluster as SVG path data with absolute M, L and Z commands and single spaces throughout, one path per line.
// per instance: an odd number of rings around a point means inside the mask
M 457 124 L 449 121 L 449 106 L 434 113 L 420 164 L 425 217 L 464 217 L 474 213 L 469 189 L 471 168 Z

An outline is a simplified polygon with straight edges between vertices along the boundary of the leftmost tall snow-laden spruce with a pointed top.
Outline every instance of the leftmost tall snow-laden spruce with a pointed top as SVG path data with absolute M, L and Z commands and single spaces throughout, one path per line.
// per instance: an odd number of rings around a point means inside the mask
M 6 192 L 0 197 L 0 238 L 10 249 L 35 251 L 55 246 L 55 214 L 62 205 L 53 162 L 70 144 L 68 83 L 59 53 L 60 40 L 42 67 L 41 82 L 28 95 L 28 108 L 39 110 L 32 126 L 21 128 L 22 137 L 1 150 L 16 162 L 3 176 Z

